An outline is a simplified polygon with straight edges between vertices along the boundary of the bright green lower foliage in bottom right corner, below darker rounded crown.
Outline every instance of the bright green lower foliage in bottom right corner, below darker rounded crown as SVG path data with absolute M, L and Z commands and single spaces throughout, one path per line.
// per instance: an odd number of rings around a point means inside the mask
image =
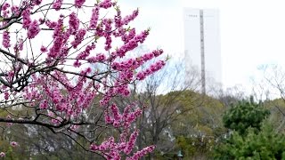
M 247 135 L 233 132 L 216 150 L 216 159 L 285 159 L 285 135 L 269 124 L 260 132 L 248 128 Z

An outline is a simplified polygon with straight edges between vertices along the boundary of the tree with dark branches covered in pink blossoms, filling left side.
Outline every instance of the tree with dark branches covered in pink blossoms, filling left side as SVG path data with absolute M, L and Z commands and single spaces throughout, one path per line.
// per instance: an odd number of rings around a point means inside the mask
M 106 10 L 115 13 L 103 14 Z M 122 17 L 112 0 L 0 4 L 0 112 L 8 115 L 0 122 L 44 126 L 75 141 L 85 138 L 89 146 L 80 146 L 106 159 L 138 159 L 153 151 L 151 146 L 132 155 L 139 131 L 130 128 L 142 110 L 133 104 L 120 112 L 112 102 L 128 97 L 130 84 L 166 64 L 158 60 L 142 69 L 162 50 L 128 56 L 150 34 L 150 29 L 128 27 L 138 13 Z M 118 140 L 108 135 L 111 128 L 119 131 Z

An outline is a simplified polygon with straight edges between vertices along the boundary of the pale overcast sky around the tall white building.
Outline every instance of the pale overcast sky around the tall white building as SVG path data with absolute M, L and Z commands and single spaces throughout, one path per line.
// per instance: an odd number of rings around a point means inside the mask
M 220 11 L 221 54 L 225 87 L 243 84 L 262 64 L 285 64 L 285 10 L 281 0 L 119 0 L 122 11 L 140 8 L 134 25 L 151 27 L 146 45 L 183 55 L 183 7 Z

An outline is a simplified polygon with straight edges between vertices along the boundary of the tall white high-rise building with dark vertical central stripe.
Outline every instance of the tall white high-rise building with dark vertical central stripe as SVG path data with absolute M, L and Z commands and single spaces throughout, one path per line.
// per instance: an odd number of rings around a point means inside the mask
M 209 83 L 222 84 L 219 12 L 185 8 L 183 16 L 185 79 L 190 81 L 187 76 L 196 70 L 201 77 L 201 92 L 208 92 Z

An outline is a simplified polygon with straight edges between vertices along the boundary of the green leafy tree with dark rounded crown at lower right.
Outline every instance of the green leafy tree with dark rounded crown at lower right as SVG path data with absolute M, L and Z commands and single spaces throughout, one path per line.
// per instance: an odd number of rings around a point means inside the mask
M 215 149 L 216 159 L 285 159 L 285 135 L 264 123 L 269 111 L 252 100 L 225 112 L 224 126 L 233 130 Z

